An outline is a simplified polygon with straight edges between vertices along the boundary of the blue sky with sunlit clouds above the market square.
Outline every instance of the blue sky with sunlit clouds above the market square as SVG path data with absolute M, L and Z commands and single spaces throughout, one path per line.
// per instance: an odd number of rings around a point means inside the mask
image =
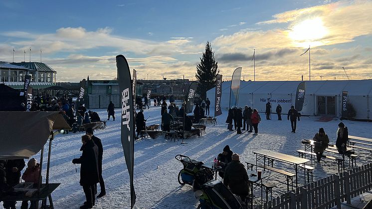
M 138 77 L 195 79 L 211 41 L 224 78 L 236 67 L 253 80 L 372 78 L 371 1 L 0 1 L 0 60 L 42 61 L 57 81 L 113 79 L 124 54 Z M 344 78 L 345 77 L 345 78 Z

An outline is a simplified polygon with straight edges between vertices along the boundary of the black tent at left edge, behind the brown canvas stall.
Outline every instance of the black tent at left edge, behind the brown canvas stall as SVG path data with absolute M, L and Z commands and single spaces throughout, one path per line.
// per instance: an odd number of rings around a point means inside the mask
M 21 103 L 25 96 L 20 96 L 20 91 L 0 83 L 0 111 L 24 111 Z

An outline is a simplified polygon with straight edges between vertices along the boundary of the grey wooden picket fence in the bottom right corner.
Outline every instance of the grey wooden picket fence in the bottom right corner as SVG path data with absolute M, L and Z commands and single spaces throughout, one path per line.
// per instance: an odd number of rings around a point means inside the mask
M 329 209 L 372 190 L 372 163 L 297 188 L 257 209 Z

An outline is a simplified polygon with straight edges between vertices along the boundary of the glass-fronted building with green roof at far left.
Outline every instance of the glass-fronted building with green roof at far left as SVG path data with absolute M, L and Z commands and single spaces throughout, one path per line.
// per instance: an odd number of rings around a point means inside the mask
M 22 89 L 24 76 L 31 76 L 30 86 L 34 94 L 55 85 L 56 71 L 42 62 L 1 62 L 0 82 L 14 89 Z

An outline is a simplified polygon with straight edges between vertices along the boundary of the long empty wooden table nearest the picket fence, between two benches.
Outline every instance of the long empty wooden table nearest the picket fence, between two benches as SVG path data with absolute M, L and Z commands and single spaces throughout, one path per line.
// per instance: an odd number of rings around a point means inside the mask
M 291 155 L 286 155 L 283 153 L 278 153 L 274 152 L 271 150 L 258 150 L 254 151 L 254 154 L 256 154 L 256 164 L 257 161 L 260 159 L 263 159 L 264 165 L 266 164 L 266 158 L 268 161 L 268 165 L 273 166 L 274 160 L 283 162 L 283 163 L 288 163 L 294 166 L 295 172 L 296 172 L 296 187 L 298 187 L 298 170 L 301 168 L 300 166 L 303 165 L 305 166 L 305 163 L 309 162 L 310 160 L 304 159 L 304 158 L 299 158 Z M 304 178 L 306 178 L 306 172 L 304 169 Z

